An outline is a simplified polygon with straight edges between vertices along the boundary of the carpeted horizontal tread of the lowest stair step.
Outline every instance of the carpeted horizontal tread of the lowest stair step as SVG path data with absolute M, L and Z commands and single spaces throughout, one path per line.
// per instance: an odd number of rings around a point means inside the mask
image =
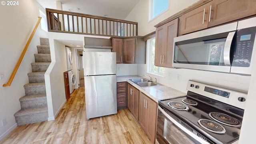
M 18 112 L 14 114 L 14 116 L 25 116 L 30 114 L 38 114 L 42 112 L 48 112 L 47 106 L 41 107 L 41 108 L 27 108 L 27 109 L 21 109 Z

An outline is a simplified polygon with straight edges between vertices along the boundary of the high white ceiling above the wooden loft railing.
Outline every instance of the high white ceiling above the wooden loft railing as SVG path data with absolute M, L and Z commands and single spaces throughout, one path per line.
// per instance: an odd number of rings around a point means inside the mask
M 108 15 L 109 18 L 124 20 L 139 0 L 36 0 L 43 8 L 56 9 L 56 1 L 62 3 L 62 10 L 91 14 Z M 78 10 L 79 9 L 79 10 Z

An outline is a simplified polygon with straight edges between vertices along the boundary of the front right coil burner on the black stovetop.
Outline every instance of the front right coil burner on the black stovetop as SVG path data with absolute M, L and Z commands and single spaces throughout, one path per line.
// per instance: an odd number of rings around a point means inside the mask
M 206 130 L 209 130 L 210 132 L 214 132 L 217 134 L 226 133 L 226 129 L 223 126 L 221 126 L 220 124 L 218 124 L 212 120 L 200 119 L 200 120 L 198 120 L 198 123 L 200 124 L 200 126 L 205 128 Z

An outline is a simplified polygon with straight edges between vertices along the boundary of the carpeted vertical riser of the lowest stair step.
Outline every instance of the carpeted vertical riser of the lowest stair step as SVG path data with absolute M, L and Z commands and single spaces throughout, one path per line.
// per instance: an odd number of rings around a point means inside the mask
M 35 122 L 43 122 L 48 120 L 48 112 L 38 114 L 30 114 L 25 116 L 15 116 L 17 125 L 32 124 Z

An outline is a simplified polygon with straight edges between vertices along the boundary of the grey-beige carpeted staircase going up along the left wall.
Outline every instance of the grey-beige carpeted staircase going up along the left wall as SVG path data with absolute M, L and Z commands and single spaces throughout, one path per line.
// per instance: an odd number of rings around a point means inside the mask
M 14 114 L 18 126 L 48 120 L 48 108 L 44 73 L 51 63 L 48 38 L 40 38 L 34 54 L 35 62 L 31 63 L 32 72 L 28 73 L 28 84 L 24 85 L 25 96 L 20 98 L 21 110 Z

